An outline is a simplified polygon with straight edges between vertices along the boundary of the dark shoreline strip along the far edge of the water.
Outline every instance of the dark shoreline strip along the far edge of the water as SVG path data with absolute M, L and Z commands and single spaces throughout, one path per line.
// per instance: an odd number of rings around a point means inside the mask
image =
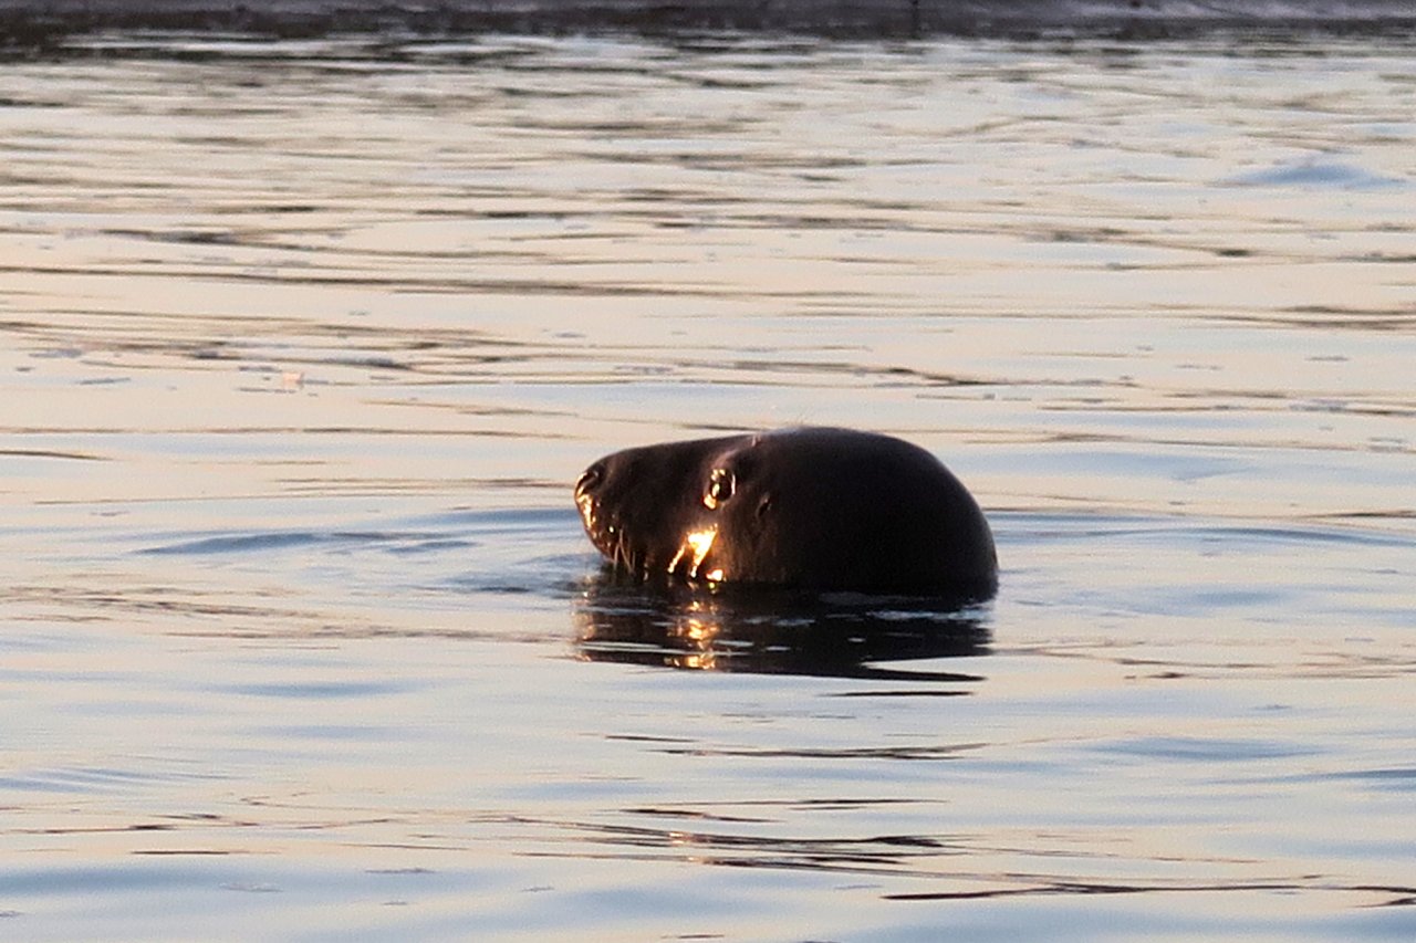
M 112 31 L 348 34 L 767 31 L 834 37 L 1416 34 L 1409 0 L 0 0 L 0 44 Z

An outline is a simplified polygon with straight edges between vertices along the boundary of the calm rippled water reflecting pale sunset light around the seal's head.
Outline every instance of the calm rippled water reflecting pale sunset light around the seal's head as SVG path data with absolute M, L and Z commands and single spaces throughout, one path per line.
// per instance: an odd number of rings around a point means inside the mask
M 1409 47 L 88 51 L 0 76 L 6 939 L 1416 935 Z M 600 581 L 585 464 L 799 422 L 998 598 Z

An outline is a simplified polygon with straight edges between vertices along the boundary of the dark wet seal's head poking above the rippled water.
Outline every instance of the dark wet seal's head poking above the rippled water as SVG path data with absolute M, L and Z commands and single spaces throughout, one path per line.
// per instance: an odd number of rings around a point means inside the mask
M 993 535 L 935 456 L 848 429 L 626 449 L 575 486 L 590 541 L 636 578 L 957 593 L 997 588 Z

